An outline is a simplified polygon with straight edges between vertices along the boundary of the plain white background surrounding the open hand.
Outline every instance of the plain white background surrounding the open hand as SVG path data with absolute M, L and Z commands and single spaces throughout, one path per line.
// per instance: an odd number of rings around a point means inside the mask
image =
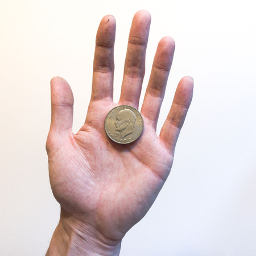
M 76 133 L 102 16 L 117 20 L 117 101 L 131 20 L 141 9 L 152 15 L 143 92 L 160 38 L 176 42 L 158 130 L 182 76 L 194 78 L 195 91 L 170 177 L 123 239 L 121 255 L 256 255 L 256 22 L 249 0 L 1 0 L 0 255 L 44 255 L 59 220 L 45 151 L 49 81 L 62 76 L 72 86 Z

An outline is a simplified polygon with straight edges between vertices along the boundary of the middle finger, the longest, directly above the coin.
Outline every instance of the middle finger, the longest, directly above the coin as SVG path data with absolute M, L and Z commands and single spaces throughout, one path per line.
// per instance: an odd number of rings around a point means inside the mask
M 145 73 L 145 56 L 151 15 L 138 11 L 134 15 L 128 40 L 125 69 L 119 102 L 138 108 Z

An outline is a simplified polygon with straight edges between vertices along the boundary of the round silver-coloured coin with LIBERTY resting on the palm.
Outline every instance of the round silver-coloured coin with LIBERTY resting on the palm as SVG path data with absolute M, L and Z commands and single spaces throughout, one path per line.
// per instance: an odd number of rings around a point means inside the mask
M 136 141 L 142 134 L 143 126 L 141 113 L 128 105 L 113 108 L 105 118 L 106 134 L 112 141 L 120 144 Z

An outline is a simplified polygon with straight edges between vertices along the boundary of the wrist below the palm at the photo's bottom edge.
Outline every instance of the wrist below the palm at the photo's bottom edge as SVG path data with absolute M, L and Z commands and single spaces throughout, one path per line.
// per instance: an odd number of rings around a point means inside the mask
M 104 237 L 92 225 L 61 211 L 46 255 L 119 255 L 121 241 Z

